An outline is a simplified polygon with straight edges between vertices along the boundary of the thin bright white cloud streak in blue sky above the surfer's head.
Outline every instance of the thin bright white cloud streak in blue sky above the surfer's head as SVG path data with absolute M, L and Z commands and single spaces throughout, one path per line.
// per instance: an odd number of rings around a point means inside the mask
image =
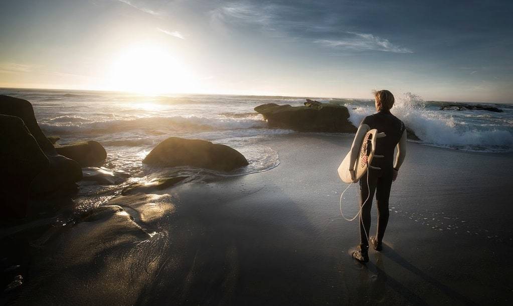
M 410 49 L 396 46 L 388 41 L 388 39 L 374 36 L 367 33 L 347 32 L 349 37 L 342 39 L 319 39 L 316 43 L 327 47 L 340 48 L 354 51 L 385 51 L 394 53 L 413 53 Z

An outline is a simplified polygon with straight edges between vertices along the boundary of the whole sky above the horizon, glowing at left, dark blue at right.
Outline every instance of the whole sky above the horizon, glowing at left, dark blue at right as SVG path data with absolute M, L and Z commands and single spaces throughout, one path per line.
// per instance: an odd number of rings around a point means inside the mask
M 513 1 L 16 0 L 0 87 L 513 103 Z

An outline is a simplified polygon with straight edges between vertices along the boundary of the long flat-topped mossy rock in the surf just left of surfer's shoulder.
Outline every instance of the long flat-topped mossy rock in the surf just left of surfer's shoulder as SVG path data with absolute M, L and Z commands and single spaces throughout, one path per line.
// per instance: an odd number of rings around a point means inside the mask
M 346 107 L 307 100 L 305 106 L 292 107 L 274 103 L 254 108 L 267 120 L 270 127 L 299 132 L 354 133 L 357 128 L 349 121 Z

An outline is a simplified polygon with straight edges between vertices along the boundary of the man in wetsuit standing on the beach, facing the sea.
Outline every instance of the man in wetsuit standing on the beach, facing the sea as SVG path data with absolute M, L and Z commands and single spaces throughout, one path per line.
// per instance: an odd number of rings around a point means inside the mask
M 360 150 L 360 144 L 365 134 L 371 129 L 378 133 L 385 133 L 385 137 L 376 139 L 374 158 L 368 167 L 367 173 L 360 178 L 360 206 L 364 205 L 360 215 L 360 250 L 352 254 L 360 262 L 368 262 L 369 240 L 376 251 L 382 250 L 383 236 L 388 223 L 388 198 L 392 181 L 396 180 L 404 157 L 406 156 L 406 127 L 403 122 L 390 113 L 394 97 L 388 90 L 380 90 L 374 94 L 376 99 L 376 114 L 365 117 L 354 136 L 351 147 L 351 160 L 354 165 Z M 397 157 L 393 161 L 394 149 L 397 147 Z M 379 156 L 382 157 L 379 157 Z M 356 182 L 354 169 L 349 169 L 351 177 Z M 367 177 L 368 176 L 368 177 Z M 368 180 L 368 185 L 367 185 Z M 376 236 L 368 237 L 370 230 L 370 208 L 372 198 L 376 192 L 378 206 L 378 229 Z M 368 199 L 367 199 L 368 198 Z

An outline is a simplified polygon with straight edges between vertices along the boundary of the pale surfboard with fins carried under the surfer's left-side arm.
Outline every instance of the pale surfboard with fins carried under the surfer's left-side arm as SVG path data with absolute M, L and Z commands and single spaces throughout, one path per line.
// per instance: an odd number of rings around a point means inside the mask
M 354 162 L 354 175 L 356 179 L 360 179 L 367 172 L 367 165 L 370 165 L 372 158 L 374 157 L 374 151 L 376 150 L 376 138 L 378 130 L 372 129 L 365 134 L 362 144 L 360 145 L 360 151 L 358 157 Z M 351 173 L 349 172 L 349 162 L 351 159 L 351 151 L 347 153 L 342 164 L 340 164 L 338 172 L 340 179 L 345 183 L 352 182 Z

